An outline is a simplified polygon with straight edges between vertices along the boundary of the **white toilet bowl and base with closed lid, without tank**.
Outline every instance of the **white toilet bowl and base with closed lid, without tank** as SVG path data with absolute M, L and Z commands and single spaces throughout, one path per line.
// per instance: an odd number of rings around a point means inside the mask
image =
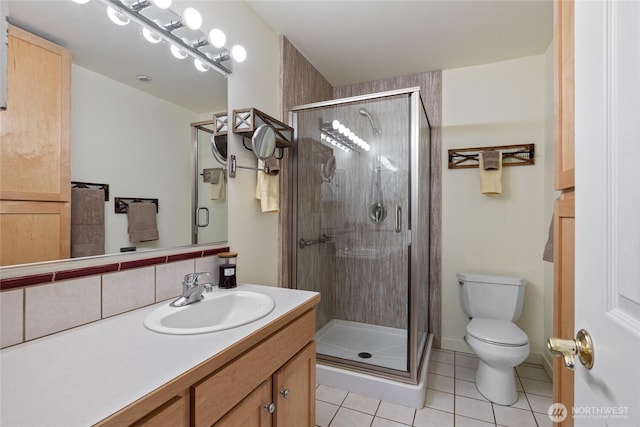
M 518 400 L 514 367 L 529 356 L 527 335 L 512 322 L 475 318 L 464 339 L 479 359 L 478 391 L 493 403 L 513 405 Z

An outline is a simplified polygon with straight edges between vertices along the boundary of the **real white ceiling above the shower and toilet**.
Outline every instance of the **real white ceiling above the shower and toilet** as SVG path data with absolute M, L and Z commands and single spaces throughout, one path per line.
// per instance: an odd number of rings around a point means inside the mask
M 551 0 L 247 3 L 334 86 L 541 54 Z

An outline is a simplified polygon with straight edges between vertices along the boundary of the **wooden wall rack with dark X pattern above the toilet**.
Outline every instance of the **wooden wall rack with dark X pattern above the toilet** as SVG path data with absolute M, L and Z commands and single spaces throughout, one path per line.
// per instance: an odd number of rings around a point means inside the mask
M 449 150 L 449 169 L 477 168 L 483 151 L 502 151 L 502 166 L 535 164 L 535 144 L 496 145 L 493 147 L 453 148 Z

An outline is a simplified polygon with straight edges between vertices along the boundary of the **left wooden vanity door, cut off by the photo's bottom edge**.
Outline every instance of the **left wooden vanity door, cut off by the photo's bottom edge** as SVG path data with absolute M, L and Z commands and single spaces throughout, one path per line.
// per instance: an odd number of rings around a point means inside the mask
M 233 385 L 231 385 L 233 387 Z M 216 427 L 268 427 L 271 426 L 271 380 L 263 382 L 231 411 L 222 417 Z M 265 408 L 265 405 L 267 407 Z

